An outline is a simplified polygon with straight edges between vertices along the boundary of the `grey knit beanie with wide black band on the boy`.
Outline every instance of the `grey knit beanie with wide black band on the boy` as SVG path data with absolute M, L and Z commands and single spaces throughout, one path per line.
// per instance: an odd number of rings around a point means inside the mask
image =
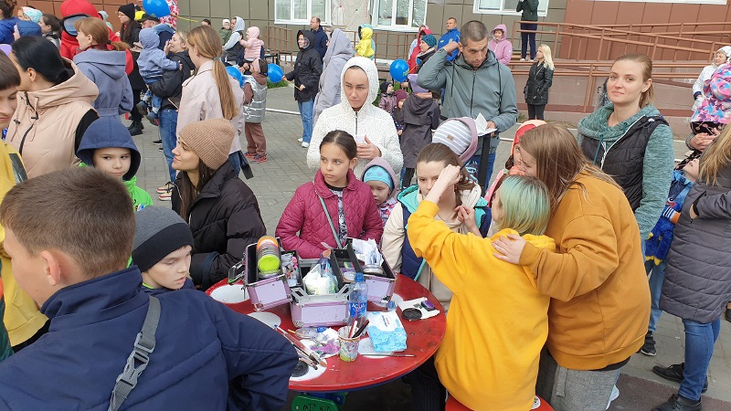
M 132 243 L 132 262 L 140 271 L 148 271 L 182 246 L 193 246 L 190 227 L 170 208 L 145 207 L 137 211 L 135 221 L 137 228 Z

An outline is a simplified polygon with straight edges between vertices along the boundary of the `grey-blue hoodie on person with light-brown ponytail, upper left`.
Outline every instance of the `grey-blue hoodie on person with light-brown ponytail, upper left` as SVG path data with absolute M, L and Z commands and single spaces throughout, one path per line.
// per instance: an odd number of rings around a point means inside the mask
M 124 72 L 124 51 L 91 48 L 74 56 L 74 63 L 99 88 L 99 97 L 94 100 L 99 116 L 119 116 L 132 110 L 132 87 Z

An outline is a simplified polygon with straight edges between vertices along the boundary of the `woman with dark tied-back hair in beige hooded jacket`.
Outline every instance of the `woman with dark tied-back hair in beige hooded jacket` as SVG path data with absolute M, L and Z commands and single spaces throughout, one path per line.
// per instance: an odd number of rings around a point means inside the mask
M 28 177 L 78 165 L 76 148 L 99 118 L 92 107 L 99 90 L 43 37 L 20 37 L 10 60 L 20 86 L 5 141 L 23 156 Z

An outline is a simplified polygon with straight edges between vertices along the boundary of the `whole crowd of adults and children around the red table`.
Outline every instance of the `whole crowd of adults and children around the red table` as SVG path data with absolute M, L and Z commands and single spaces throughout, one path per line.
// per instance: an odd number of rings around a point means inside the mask
M 518 2 L 523 20 L 537 4 Z M 277 410 L 295 350 L 202 293 L 267 231 L 239 177 L 268 156 L 260 29 L 236 16 L 183 31 L 137 9 L 118 7 L 115 32 L 86 0 L 61 20 L 23 7 L 36 30 L 0 0 L 0 407 Z M 701 410 L 724 309 L 731 320 L 731 46 L 693 88 L 675 165 L 648 56 L 613 62 L 607 104 L 575 136 L 543 121 L 553 58 L 523 33 L 529 121 L 490 184 L 518 121 L 506 26 L 422 26 L 407 80 L 380 82 L 372 27 L 354 45 L 320 24 L 298 31 L 284 74 L 314 177 L 276 235 L 303 258 L 373 239 L 442 303 L 439 350 L 404 377 L 414 409 L 444 410 L 448 393 L 473 410 L 537 396 L 605 410 L 632 355 L 656 355 L 664 311 L 683 320 L 685 355 L 653 370 L 680 382 L 654 411 Z M 136 184 L 143 115 L 172 209 Z

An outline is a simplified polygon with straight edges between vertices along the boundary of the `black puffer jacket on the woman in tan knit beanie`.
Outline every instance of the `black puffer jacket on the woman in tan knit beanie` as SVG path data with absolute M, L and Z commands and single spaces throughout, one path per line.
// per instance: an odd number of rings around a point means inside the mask
M 181 211 L 181 196 L 175 179 L 173 210 Z M 188 224 L 193 232 L 190 275 L 193 283 L 207 290 L 228 276 L 229 268 L 243 257 L 246 246 L 266 235 L 254 192 L 225 162 L 205 184 L 190 207 Z

